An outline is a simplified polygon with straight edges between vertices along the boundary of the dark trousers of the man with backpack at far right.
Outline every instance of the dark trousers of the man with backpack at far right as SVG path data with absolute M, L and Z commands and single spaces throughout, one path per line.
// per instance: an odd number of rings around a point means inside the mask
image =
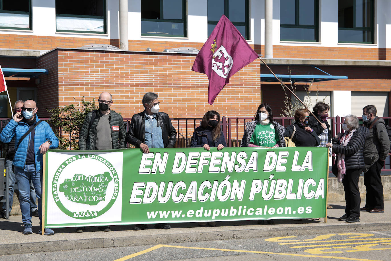
M 380 171 L 384 161 L 375 162 L 366 173 L 364 173 L 364 185 L 366 187 L 365 207 L 384 209 L 383 184 Z

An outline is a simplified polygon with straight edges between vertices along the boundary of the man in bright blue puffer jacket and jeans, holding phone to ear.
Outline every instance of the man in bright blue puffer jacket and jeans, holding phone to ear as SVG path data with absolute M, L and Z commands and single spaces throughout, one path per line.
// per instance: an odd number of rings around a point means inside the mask
M 20 210 L 24 225 L 23 234 L 32 234 L 30 215 L 30 182 L 34 184 L 38 198 L 39 225 L 42 222 L 42 179 L 41 165 L 43 154 L 49 148 L 58 147 L 58 138 L 47 122 L 38 119 L 37 104 L 33 100 L 24 102 L 22 112 L 16 112 L 14 118 L 0 134 L 0 140 L 8 143 L 15 137 L 15 156 L 13 160 L 16 182 L 19 188 Z M 35 128 L 34 128 L 35 127 Z M 23 135 L 32 131 L 23 139 Z M 41 234 L 41 231 L 38 232 Z M 45 235 L 53 235 L 52 229 L 46 228 Z

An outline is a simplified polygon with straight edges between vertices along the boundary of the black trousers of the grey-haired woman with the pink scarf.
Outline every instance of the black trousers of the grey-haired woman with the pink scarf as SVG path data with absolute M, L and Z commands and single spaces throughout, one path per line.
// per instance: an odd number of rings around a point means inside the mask
M 345 191 L 345 213 L 355 218 L 360 217 L 361 196 L 359 191 L 359 178 L 361 169 L 347 169 L 342 184 Z

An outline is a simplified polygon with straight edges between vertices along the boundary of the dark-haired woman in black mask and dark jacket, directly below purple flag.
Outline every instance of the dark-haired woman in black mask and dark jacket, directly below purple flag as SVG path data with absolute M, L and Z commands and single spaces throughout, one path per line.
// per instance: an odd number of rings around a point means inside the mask
M 227 146 L 224 134 L 220 128 L 220 114 L 216 111 L 205 113 L 201 121 L 201 126 L 195 128 L 190 142 L 190 148 L 204 147 L 210 150 L 217 147 L 218 150 Z

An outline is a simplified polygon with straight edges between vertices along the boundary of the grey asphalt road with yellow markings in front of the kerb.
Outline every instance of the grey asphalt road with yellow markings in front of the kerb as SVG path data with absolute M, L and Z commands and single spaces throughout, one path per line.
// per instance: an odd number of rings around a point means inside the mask
M 0 256 L 0 260 L 391 260 L 391 230 L 227 239 Z

